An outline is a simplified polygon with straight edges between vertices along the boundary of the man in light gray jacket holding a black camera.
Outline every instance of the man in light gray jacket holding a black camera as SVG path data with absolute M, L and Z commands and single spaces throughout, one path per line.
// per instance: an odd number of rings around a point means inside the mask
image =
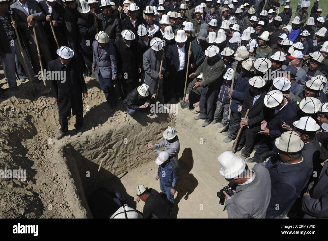
M 265 218 L 271 197 L 269 171 L 259 164 L 249 170 L 240 157 L 229 151 L 217 160 L 221 164 L 221 176 L 230 182 L 217 193 L 225 198 L 223 210 L 228 210 L 228 218 Z

